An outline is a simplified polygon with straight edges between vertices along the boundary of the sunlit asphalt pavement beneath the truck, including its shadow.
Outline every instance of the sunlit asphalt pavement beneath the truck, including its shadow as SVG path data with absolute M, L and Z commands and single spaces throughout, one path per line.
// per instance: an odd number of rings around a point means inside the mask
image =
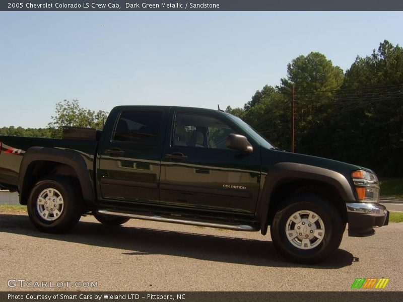
M 372 237 L 345 234 L 329 260 L 309 266 L 288 262 L 270 236 L 257 232 L 135 219 L 109 227 L 83 217 L 69 234 L 52 235 L 34 229 L 26 215 L 0 214 L 0 290 L 46 290 L 7 285 L 25 279 L 53 286 L 98 282 L 94 288 L 52 290 L 338 291 L 364 277 L 389 278 L 380 290 L 401 291 L 402 232 L 403 223 L 390 223 Z

